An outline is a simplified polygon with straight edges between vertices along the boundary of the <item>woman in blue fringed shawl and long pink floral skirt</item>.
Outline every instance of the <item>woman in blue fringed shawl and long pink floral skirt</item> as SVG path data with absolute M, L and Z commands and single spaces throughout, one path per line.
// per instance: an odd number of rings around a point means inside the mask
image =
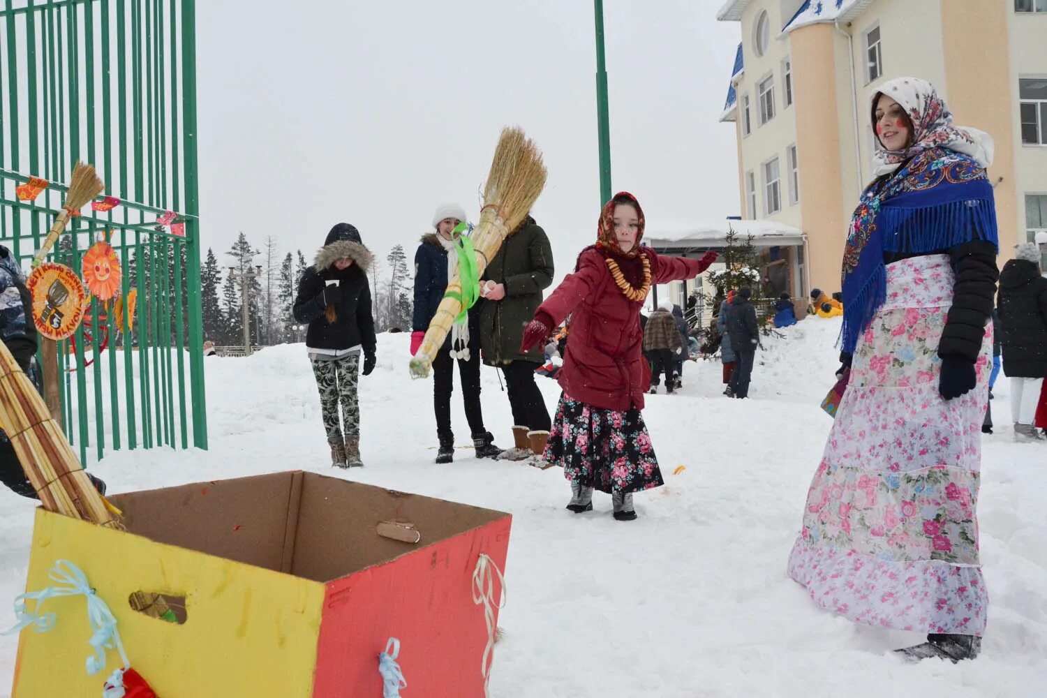
M 788 572 L 851 621 L 929 633 L 907 656 L 957 661 L 977 656 L 988 603 L 976 506 L 999 276 L 993 140 L 953 126 L 914 77 L 871 106 L 877 178 L 843 261 L 850 382 Z

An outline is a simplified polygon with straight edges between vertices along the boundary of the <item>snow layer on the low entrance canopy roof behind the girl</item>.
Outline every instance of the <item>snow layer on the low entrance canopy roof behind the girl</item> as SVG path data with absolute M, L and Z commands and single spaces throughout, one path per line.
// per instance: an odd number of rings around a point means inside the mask
M 800 245 L 804 241 L 803 230 L 763 219 L 698 222 L 684 220 L 647 221 L 644 229 L 644 244 L 661 249 L 687 247 L 722 247 L 728 233 L 734 230 L 739 242 L 750 235 L 757 247 L 776 245 Z

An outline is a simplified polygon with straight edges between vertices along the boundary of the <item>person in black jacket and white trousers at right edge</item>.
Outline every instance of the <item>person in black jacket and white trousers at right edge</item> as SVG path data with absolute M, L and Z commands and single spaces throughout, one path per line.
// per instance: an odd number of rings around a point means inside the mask
M 1022 243 L 1000 272 L 1000 343 L 1003 373 L 1010 379 L 1010 416 L 1016 441 L 1043 441 L 1035 415 L 1047 377 L 1047 278 L 1035 243 Z

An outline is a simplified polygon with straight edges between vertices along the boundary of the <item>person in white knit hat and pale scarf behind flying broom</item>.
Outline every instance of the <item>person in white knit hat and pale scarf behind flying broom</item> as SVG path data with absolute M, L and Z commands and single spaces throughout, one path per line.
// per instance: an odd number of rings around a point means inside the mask
M 458 234 L 454 228 L 465 220 L 465 209 L 458 204 L 444 204 L 432 216 L 433 231 L 422 235 L 415 252 L 415 316 L 411 321 L 410 355 L 415 356 L 425 338 L 447 291 L 447 279 L 458 271 Z M 454 364 L 462 381 L 465 419 L 469 423 L 472 446 L 477 458 L 495 458 L 502 449 L 484 427 L 484 410 L 480 404 L 480 307 L 468 313 L 464 346 L 451 346 L 451 334 L 432 359 L 432 408 L 437 418 L 437 463 L 454 459 L 454 433 L 451 431 L 451 392 L 454 391 Z M 452 352 L 455 356 L 451 356 Z

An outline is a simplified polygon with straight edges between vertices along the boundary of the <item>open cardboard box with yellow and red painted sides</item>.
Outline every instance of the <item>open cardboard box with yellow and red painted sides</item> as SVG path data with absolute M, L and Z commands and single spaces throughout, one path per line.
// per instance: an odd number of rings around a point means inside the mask
M 48 586 L 57 560 L 79 565 L 160 698 L 381 696 L 389 637 L 406 695 L 484 695 L 472 575 L 481 553 L 505 569 L 508 514 L 303 472 L 112 500 L 126 533 L 37 510 L 26 588 Z M 378 535 L 391 520 L 413 523 L 419 542 Z M 184 596 L 184 623 L 133 610 L 137 591 Z M 120 660 L 110 652 L 104 674 L 84 671 L 84 599 L 44 610 L 58 625 L 22 633 L 13 698 L 101 695 Z

